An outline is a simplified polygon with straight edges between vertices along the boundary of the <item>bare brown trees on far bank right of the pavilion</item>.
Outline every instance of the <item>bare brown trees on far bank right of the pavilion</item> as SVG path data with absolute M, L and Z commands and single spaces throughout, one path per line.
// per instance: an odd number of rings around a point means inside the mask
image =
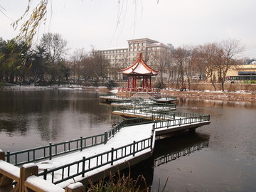
M 191 87 L 193 78 L 208 81 L 216 90 L 219 82 L 224 90 L 225 77 L 230 68 L 247 63 L 248 59 L 238 59 L 243 50 L 240 41 L 228 39 L 199 46 L 182 46 L 172 51 L 151 53 L 154 67 L 159 70 L 159 83 L 176 82 L 176 87 Z M 164 78 L 165 77 L 165 78 Z

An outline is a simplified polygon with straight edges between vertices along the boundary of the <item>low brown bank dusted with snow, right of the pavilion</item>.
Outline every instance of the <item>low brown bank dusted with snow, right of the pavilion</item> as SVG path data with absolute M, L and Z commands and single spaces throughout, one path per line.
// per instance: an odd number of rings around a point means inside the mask
M 237 102 L 256 102 L 256 94 L 253 92 L 210 92 L 210 91 L 179 91 L 179 90 L 161 90 L 161 95 L 199 98 L 206 100 L 223 100 Z

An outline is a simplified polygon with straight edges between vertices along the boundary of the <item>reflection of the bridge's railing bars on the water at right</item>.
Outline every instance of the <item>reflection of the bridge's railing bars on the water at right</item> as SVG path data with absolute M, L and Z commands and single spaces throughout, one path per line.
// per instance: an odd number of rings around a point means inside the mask
M 180 156 L 186 156 L 188 154 L 193 153 L 194 151 L 199 151 L 203 148 L 208 147 L 209 142 L 202 142 L 200 144 L 194 144 L 193 146 L 188 146 L 185 149 L 181 149 L 180 151 L 172 152 L 171 154 L 166 154 L 163 156 L 159 156 L 154 159 L 154 167 L 160 166 L 162 164 L 167 164 L 169 161 L 174 161 Z

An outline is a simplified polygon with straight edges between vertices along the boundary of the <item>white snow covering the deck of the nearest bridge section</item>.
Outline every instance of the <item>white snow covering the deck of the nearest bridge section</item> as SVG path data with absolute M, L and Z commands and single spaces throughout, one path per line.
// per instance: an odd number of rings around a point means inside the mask
M 149 124 L 140 124 L 140 125 L 134 125 L 134 126 L 129 126 L 129 127 L 124 127 L 122 128 L 119 132 L 117 132 L 117 134 L 114 135 L 114 137 L 112 137 L 112 139 L 110 139 L 107 144 L 100 144 L 97 146 L 92 146 L 90 148 L 86 148 L 83 149 L 82 151 L 78 151 L 78 152 L 74 152 L 72 154 L 67 154 L 65 156 L 59 156 L 56 157 L 54 159 L 51 160 L 46 160 L 46 161 L 41 161 L 38 162 L 38 169 L 40 171 L 43 171 L 43 169 L 55 169 L 58 168 L 60 166 L 64 166 L 66 164 L 70 164 L 73 163 L 74 161 L 79 161 L 82 159 L 83 156 L 85 156 L 86 158 L 90 157 L 90 156 L 95 156 L 97 154 L 101 154 L 105 151 L 110 151 L 112 148 L 116 149 L 120 146 L 125 146 L 127 144 L 132 144 L 134 141 L 140 141 L 142 139 L 146 139 L 151 137 L 152 134 L 152 127 L 153 127 L 153 123 L 149 123 Z M 154 143 L 154 139 L 153 139 L 153 143 Z M 154 144 L 153 144 L 154 146 Z M 136 156 L 140 156 L 143 154 L 147 154 L 150 153 L 151 149 L 145 149 L 143 151 L 140 151 L 136 154 Z M 134 158 L 132 155 L 131 156 L 127 156 L 123 159 L 119 159 L 118 161 L 114 161 L 113 166 L 118 165 L 118 164 L 122 164 L 125 161 L 129 161 L 130 159 Z M 94 164 L 92 162 L 92 164 Z M 96 164 L 96 163 L 95 163 Z M 95 170 L 92 171 L 88 171 L 85 173 L 85 177 L 89 177 L 89 176 L 93 176 L 94 174 L 97 174 L 98 172 L 104 171 L 106 169 L 109 169 L 110 167 L 112 167 L 110 164 L 107 164 L 105 166 L 101 166 L 100 168 L 97 168 Z M 71 169 L 71 171 L 76 171 L 77 169 Z M 54 174 L 55 178 L 61 178 L 61 173 L 60 174 Z M 82 176 L 77 176 L 75 178 L 75 181 L 80 181 L 82 179 Z M 47 178 L 47 180 L 50 180 L 51 176 L 49 176 Z M 73 183 L 73 179 L 68 180 L 68 181 L 64 181 L 62 183 L 59 183 L 59 186 L 65 187 L 68 186 L 70 183 Z

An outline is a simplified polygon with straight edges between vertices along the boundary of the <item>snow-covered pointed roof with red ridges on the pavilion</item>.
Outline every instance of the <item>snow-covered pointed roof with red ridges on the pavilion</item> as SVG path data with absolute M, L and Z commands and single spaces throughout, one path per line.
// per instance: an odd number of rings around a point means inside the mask
M 137 61 L 129 66 L 128 68 L 121 70 L 122 74 L 125 75 L 157 75 L 158 70 L 154 70 L 146 65 L 144 60 L 142 59 L 142 53 L 139 53 L 139 58 Z

